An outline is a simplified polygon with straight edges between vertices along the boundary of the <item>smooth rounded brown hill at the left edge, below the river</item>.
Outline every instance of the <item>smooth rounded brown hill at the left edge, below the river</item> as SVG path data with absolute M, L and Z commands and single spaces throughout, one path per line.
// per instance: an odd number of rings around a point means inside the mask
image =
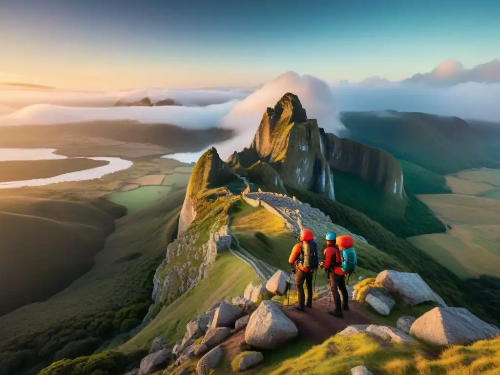
M 97 199 L 46 199 L 4 191 L 0 315 L 42 301 L 88 271 L 114 229 L 114 219 L 123 214 L 121 207 Z

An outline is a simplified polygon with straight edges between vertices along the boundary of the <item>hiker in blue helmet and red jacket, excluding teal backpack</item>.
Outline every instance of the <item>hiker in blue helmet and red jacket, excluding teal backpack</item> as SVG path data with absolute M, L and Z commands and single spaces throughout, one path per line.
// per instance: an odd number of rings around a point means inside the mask
M 335 309 L 333 311 L 329 311 L 328 313 L 333 316 L 343 317 L 343 313 L 340 308 L 340 294 L 338 293 L 338 289 L 340 289 L 340 292 L 342 293 L 342 308 L 344 310 L 349 309 L 349 295 L 347 294 L 347 288 L 345 287 L 345 273 L 341 268 L 342 258 L 340 256 L 340 249 L 336 245 L 337 236 L 334 232 L 327 232 L 325 237 L 326 248 L 323 251 L 324 261 L 321 262 L 319 266 L 324 268 L 328 275 L 330 293 L 333 294 L 333 302 L 335 303 Z

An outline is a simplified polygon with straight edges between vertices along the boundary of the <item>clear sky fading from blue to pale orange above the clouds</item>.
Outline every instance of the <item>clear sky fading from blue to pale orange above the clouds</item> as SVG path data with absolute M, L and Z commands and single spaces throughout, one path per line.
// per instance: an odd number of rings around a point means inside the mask
M 0 0 L 0 71 L 71 88 L 400 80 L 500 57 L 499 1 Z

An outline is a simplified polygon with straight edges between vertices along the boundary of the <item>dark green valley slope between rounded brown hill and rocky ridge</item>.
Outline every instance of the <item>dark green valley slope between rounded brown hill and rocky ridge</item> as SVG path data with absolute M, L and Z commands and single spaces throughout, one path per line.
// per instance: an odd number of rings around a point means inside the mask
M 49 363 L 59 350 L 56 358 L 89 354 L 139 323 L 150 304 L 154 270 L 176 233 L 184 194 L 173 192 L 119 219 L 90 271 L 48 300 L 0 317 L 0 373 Z

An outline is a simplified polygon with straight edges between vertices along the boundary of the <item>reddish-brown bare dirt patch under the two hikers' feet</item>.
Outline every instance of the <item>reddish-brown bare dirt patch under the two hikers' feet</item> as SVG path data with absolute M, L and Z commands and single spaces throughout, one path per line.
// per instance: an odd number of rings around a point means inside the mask
M 323 342 L 348 325 L 372 323 L 356 301 L 349 301 L 349 311 L 343 311 L 344 317 L 328 314 L 327 311 L 333 308 L 328 296 L 314 300 L 312 308 L 306 307 L 305 311 L 297 311 L 291 307 L 286 309 L 283 306 L 283 312 L 295 323 L 298 334 L 315 344 Z

